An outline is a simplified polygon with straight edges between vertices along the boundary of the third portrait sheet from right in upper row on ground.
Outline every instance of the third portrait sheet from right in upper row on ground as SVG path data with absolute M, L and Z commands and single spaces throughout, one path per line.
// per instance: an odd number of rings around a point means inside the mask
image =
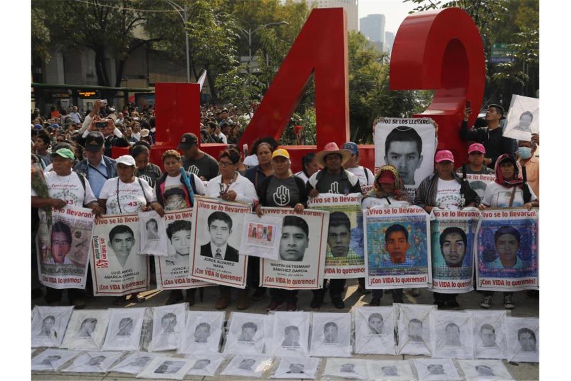
M 472 359 L 473 318 L 469 311 L 432 311 L 432 357 Z

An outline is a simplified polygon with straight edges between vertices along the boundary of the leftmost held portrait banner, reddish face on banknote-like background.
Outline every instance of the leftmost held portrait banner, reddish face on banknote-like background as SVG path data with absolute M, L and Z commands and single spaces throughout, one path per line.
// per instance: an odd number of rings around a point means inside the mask
M 91 209 L 53 209 L 38 227 L 36 248 L 40 282 L 52 288 L 85 288 L 94 214 Z

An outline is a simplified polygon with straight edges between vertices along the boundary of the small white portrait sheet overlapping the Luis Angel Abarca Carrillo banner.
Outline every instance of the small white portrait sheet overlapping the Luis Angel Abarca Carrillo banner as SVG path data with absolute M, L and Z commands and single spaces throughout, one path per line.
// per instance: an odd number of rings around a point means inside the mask
M 139 212 L 140 255 L 167 255 L 164 221 L 154 210 Z

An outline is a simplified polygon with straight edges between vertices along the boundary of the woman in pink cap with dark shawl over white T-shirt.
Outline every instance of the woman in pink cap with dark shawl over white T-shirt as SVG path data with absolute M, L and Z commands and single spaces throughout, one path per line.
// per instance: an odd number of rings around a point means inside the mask
M 435 173 L 425 178 L 416 189 L 415 205 L 430 213 L 433 208 L 461 209 L 480 204 L 480 196 L 454 172 L 454 155 L 451 151 L 440 150 L 436 153 L 435 169 Z M 457 310 L 460 304 L 456 296 L 458 294 L 434 292 L 434 304 L 438 308 L 448 306 Z

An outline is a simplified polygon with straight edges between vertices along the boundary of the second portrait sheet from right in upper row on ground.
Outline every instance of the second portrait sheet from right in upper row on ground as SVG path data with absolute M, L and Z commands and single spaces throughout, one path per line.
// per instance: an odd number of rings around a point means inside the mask
M 507 311 L 470 310 L 474 319 L 474 358 L 505 359 Z

